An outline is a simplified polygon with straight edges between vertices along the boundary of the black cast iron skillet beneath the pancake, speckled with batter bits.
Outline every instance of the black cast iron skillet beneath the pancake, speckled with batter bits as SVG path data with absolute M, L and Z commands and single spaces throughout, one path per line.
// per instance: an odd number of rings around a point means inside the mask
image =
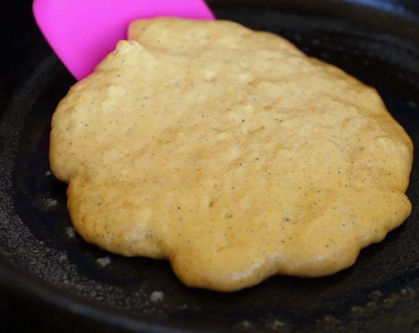
M 414 1 L 253 3 L 210 4 L 218 18 L 285 36 L 377 88 L 419 146 Z M 276 276 L 231 294 L 188 289 L 165 261 L 115 256 L 72 234 L 66 186 L 49 172 L 48 136 L 52 112 L 75 81 L 32 23 L 29 30 L 27 47 L 9 54 L 13 70 L 4 69 L 0 85 L 0 105 L 7 102 L 0 121 L 0 307 L 13 312 L 11 321 L 59 332 L 419 330 L 416 155 L 411 217 L 382 243 L 362 250 L 352 268 L 318 279 Z M 152 301 L 155 291 L 164 293 L 163 300 Z

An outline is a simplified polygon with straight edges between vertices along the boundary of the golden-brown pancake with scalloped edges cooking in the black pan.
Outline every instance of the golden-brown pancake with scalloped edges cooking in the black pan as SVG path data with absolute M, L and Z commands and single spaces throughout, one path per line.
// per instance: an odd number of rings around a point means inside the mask
M 233 291 L 354 263 L 411 212 L 378 93 L 228 21 L 135 21 L 59 103 L 51 168 L 88 242 Z

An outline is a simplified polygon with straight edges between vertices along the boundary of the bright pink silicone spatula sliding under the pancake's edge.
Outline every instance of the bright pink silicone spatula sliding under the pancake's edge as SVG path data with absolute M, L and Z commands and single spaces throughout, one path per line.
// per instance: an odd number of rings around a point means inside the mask
M 34 0 L 33 10 L 52 49 L 78 80 L 127 38 L 128 24 L 137 18 L 214 19 L 204 0 Z

